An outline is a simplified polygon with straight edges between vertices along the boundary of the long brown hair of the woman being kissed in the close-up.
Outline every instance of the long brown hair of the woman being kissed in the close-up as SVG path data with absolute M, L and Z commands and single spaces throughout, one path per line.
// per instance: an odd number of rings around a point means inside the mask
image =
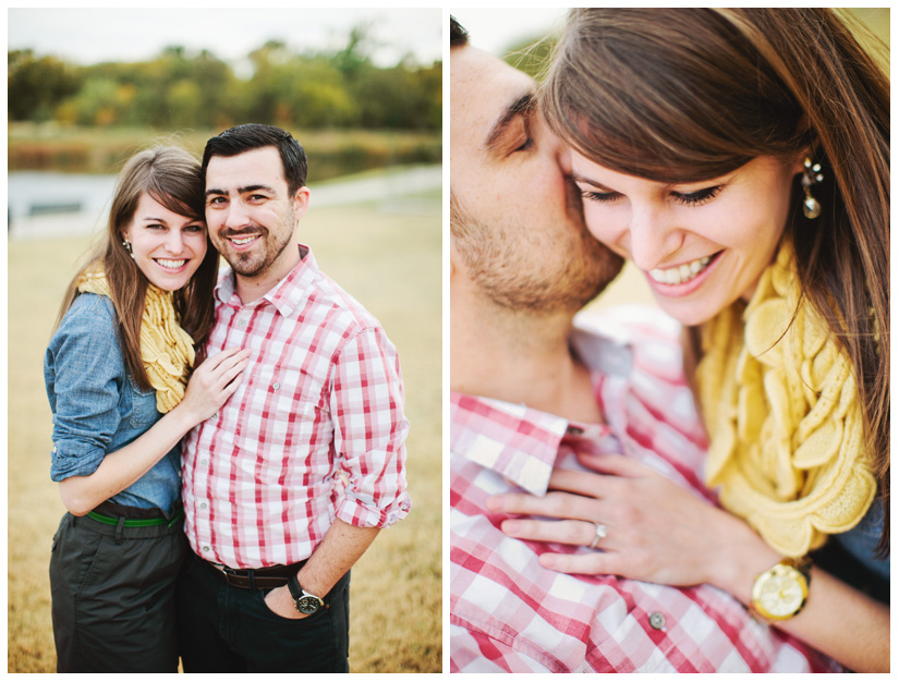
M 797 179 L 786 234 L 855 372 L 888 553 L 889 81 L 846 22 L 819 8 L 571 10 L 540 105 L 579 153 L 654 181 L 811 148 L 823 211 L 803 217 Z

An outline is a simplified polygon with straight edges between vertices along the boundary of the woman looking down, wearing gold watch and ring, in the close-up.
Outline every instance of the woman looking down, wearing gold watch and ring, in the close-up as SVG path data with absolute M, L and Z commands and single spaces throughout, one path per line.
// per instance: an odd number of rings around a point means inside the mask
M 687 326 L 706 482 L 732 513 L 593 458 L 606 476 L 554 479 L 576 496 L 505 499 L 591 522 L 561 523 L 603 551 L 545 567 L 710 583 L 853 670 L 889 668 L 889 607 L 864 594 L 888 602 L 888 95 L 830 10 L 571 11 L 542 105 L 588 228 Z M 809 568 L 822 547 L 829 572 Z

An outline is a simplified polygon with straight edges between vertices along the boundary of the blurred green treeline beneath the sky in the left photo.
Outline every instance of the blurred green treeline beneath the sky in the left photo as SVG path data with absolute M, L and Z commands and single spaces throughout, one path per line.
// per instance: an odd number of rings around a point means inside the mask
M 430 130 L 441 126 L 441 65 L 377 66 L 368 27 L 335 52 L 293 53 L 269 40 L 247 54 L 248 78 L 207 50 L 169 46 L 150 61 L 75 69 L 31 51 L 9 52 L 10 121 L 216 129 Z

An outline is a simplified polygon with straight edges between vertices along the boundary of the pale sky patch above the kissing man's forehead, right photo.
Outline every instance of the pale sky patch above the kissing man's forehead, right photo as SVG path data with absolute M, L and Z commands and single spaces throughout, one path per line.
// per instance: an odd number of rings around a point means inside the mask
M 450 13 L 465 27 L 471 44 L 498 57 L 522 38 L 543 37 L 552 28 L 561 28 L 564 9 L 527 8 L 451 9 Z

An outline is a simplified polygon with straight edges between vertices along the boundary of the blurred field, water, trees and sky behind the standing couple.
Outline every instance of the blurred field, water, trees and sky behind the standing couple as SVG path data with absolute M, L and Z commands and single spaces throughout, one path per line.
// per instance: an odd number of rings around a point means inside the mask
M 353 569 L 353 672 L 441 670 L 441 11 L 8 11 L 8 668 L 52 672 L 42 356 L 137 149 L 234 124 L 309 159 L 300 238 L 378 317 L 405 381 L 413 510 Z

